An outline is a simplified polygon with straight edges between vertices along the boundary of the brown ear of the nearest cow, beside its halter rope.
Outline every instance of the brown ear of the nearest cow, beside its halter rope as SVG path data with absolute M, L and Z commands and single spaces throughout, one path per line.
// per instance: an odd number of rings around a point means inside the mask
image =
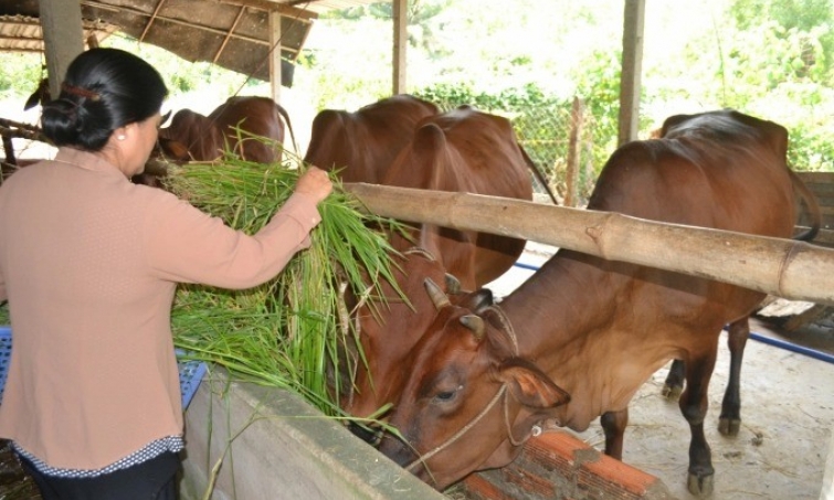
M 545 372 L 520 358 L 505 361 L 498 369 L 497 379 L 506 383 L 509 393 L 527 407 L 553 408 L 570 401 L 570 394 L 556 385 Z

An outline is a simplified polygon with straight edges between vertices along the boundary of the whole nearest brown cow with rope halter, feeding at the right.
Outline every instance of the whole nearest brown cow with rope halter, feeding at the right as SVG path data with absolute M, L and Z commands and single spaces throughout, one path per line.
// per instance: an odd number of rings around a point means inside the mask
M 675 116 L 662 139 L 614 152 L 588 208 L 790 237 L 799 181 L 785 166 L 787 146 L 783 127 L 732 110 Z M 708 494 L 714 469 L 704 418 L 718 336 L 762 298 L 560 249 L 500 308 L 439 305 L 403 363 L 411 375 L 389 421 L 407 443 L 387 436 L 380 449 L 443 489 L 511 461 L 546 419 L 582 430 L 601 416 L 605 453 L 621 458 L 629 402 L 657 369 L 680 359 L 689 490 Z

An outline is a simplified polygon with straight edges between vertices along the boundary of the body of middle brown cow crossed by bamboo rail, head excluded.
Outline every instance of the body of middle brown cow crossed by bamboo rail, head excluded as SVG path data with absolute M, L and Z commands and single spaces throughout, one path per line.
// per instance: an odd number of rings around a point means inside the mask
M 381 179 L 381 184 L 492 196 L 532 199 L 535 169 L 506 118 L 469 106 L 424 118 Z M 427 249 L 472 290 L 503 275 L 525 241 L 488 233 L 414 225 L 409 237 L 390 235 L 395 249 Z

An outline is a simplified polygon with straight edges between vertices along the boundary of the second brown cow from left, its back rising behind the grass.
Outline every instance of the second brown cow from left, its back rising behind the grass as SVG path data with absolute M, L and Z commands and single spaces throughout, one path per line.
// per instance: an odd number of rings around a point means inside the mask
M 400 150 L 411 141 L 421 119 L 437 106 L 399 94 L 350 113 L 325 109 L 313 120 L 304 161 L 337 169 L 342 182 L 378 184 Z

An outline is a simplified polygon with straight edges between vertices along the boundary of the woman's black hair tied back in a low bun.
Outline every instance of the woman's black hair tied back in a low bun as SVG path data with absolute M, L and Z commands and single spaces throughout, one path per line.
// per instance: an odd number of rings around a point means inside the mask
M 168 89 L 159 73 L 118 49 L 91 49 L 75 57 L 61 95 L 43 106 L 43 134 L 55 146 L 99 151 L 113 131 L 162 107 Z

